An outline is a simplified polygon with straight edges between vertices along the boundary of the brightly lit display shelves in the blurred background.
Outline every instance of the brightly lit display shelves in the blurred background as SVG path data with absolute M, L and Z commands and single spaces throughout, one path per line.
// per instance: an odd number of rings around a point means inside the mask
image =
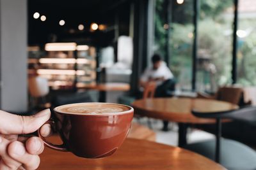
M 93 46 L 76 43 L 48 43 L 47 55 L 29 58 L 28 74 L 49 80 L 52 89 L 72 89 L 79 85 L 92 85 L 96 80 L 96 53 Z

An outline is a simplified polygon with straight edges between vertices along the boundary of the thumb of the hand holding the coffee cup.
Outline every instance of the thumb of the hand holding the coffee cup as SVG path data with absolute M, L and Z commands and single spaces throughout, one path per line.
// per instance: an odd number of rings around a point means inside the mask
M 28 134 L 35 132 L 51 117 L 49 109 L 32 116 L 19 116 L 0 111 L 1 134 Z

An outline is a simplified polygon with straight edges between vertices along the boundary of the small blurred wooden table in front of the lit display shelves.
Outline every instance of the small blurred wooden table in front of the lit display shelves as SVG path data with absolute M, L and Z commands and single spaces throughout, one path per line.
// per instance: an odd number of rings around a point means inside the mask
M 99 90 L 99 102 L 106 102 L 106 92 L 109 91 L 129 91 L 129 83 L 98 83 L 93 85 L 84 85 L 83 83 L 77 83 L 77 89 L 93 89 Z

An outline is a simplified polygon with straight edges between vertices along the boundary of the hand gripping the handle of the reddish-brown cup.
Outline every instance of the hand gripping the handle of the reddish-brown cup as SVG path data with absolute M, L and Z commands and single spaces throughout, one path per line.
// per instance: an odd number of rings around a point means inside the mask
M 19 116 L 0 110 L 0 169 L 36 169 L 40 164 L 39 154 L 44 143 L 38 137 L 24 137 L 39 129 L 49 118 L 49 109 L 32 116 Z M 51 133 L 51 126 L 45 124 L 40 129 L 42 136 Z

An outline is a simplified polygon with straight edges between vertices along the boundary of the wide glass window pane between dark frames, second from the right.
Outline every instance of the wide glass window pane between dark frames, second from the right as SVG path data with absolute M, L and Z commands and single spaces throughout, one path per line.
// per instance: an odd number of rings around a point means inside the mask
M 234 1 L 200 1 L 196 90 L 231 83 Z

